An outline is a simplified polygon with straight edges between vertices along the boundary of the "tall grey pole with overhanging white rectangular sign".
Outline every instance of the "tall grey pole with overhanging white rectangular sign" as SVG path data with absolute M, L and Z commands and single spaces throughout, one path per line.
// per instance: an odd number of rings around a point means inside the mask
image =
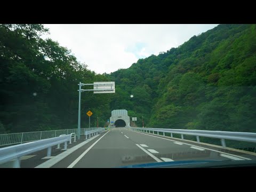
M 78 123 L 77 123 L 77 139 L 80 139 L 81 135 L 81 92 L 83 91 L 93 91 L 94 93 L 115 93 L 115 82 L 94 82 L 90 84 L 84 84 L 79 82 L 79 101 L 78 101 Z M 93 89 L 84 90 L 81 89 L 83 85 L 93 85 Z M 89 116 L 89 126 L 90 126 L 90 116 Z

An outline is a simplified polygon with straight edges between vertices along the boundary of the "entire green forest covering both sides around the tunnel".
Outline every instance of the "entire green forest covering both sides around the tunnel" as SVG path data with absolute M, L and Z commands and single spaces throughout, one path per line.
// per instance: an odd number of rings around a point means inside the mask
M 256 132 L 256 25 L 219 25 L 104 75 L 42 33 L 0 25 L 0 132 L 75 128 L 79 81 L 116 84 L 115 94 L 82 94 L 82 127 L 88 109 L 99 126 L 126 109 L 138 126 L 143 116 L 147 127 Z

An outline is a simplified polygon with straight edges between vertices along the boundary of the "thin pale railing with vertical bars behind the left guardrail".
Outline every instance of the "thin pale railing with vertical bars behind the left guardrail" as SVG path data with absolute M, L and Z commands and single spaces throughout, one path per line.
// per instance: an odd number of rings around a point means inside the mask
M 99 128 L 97 127 L 91 127 L 90 129 L 82 128 L 81 135 L 84 135 L 85 131 L 91 131 L 95 129 L 99 129 Z M 0 146 L 21 144 L 21 143 L 37 141 L 41 139 L 49 139 L 49 138 L 59 137 L 62 134 L 71 134 L 71 133 L 76 133 L 77 135 L 77 129 L 0 134 Z

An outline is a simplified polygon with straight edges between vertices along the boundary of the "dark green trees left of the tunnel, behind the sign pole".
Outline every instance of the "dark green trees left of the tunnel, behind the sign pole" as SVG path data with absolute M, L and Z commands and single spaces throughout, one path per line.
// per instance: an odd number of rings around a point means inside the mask
M 41 34 L 46 32 L 43 25 L 0 25 L 2 133 L 76 128 L 79 81 L 108 81 L 79 63 L 65 47 L 51 39 L 44 41 Z M 92 124 L 98 115 L 103 126 L 111 113 L 109 95 L 104 96 L 82 94 L 82 127 L 88 127 L 89 109 L 95 114 Z

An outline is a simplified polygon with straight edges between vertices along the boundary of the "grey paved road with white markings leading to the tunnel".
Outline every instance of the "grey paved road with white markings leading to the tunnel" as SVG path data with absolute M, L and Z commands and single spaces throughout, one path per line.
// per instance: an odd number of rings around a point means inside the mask
M 135 132 L 124 127 L 111 129 L 87 140 L 82 137 L 78 142 L 68 145 L 68 150 L 53 149 L 53 158 L 42 159 L 45 156 L 46 150 L 31 154 L 21 161 L 21 167 L 120 167 L 181 160 L 256 159 L 254 155 Z

